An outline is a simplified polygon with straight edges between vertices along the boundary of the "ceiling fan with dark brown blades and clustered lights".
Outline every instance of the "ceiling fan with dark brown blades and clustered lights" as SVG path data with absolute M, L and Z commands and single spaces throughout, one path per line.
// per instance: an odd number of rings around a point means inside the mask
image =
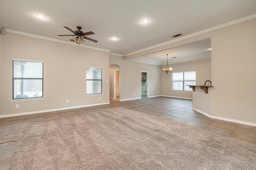
M 76 43 L 83 43 L 83 42 L 85 42 L 84 39 L 90 40 L 90 41 L 95 42 L 95 43 L 98 42 L 97 40 L 93 40 L 92 38 L 83 37 L 83 36 L 92 35 L 92 34 L 94 34 L 94 32 L 92 32 L 92 31 L 90 31 L 90 32 L 82 32 L 82 31 L 80 31 L 82 29 L 82 27 L 80 27 L 80 26 L 76 27 L 78 29 L 76 31 L 73 31 L 70 28 L 65 27 L 65 26 L 64 26 L 64 28 L 70 30 L 75 35 L 58 35 L 58 36 L 76 36 L 75 38 L 72 38 L 72 41 L 74 41 Z M 84 38 L 84 39 L 82 39 L 82 38 Z

